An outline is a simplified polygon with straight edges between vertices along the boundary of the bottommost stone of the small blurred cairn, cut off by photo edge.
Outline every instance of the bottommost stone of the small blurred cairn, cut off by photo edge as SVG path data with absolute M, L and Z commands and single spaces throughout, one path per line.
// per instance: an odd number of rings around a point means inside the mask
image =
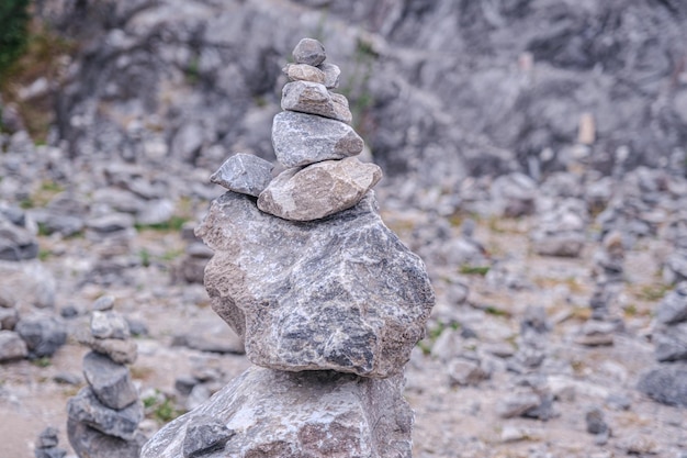
M 138 458 L 147 438 L 140 432 L 131 440 L 108 436 L 85 423 L 69 418 L 67 434 L 74 450 L 88 458 Z

